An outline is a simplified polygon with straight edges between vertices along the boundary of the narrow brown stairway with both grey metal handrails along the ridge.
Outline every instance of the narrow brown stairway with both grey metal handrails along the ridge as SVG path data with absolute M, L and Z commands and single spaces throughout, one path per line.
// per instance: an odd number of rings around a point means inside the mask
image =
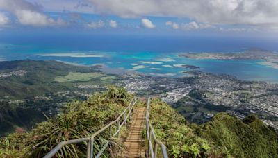
M 92 134 L 91 137 L 85 137 L 81 139 L 73 139 L 70 141 L 62 141 L 58 143 L 58 145 L 53 148 L 44 158 L 51 158 L 56 155 L 56 152 L 61 150 L 63 146 L 83 143 L 87 142 L 87 158 L 93 157 L 101 157 L 103 152 L 109 145 L 107 141 L 104 146 L 102 146 L 101 150 L 94 155 L 94 141 L 95 139 L 103 132 L 109 131 L 110 137 L 120 137 L 120 131 L 122 127 L 127 125 L 128 120 L 132 120 L 130 127 L 126 127 L 129 129 L 129 137 L 124 141 L 124 145 L 127 146 L 127 151 L 122 152 L 122 155 L 118 155 L 118 157 L 152 157 L 156 158 L 158 155 L 158 148 L 161 148 L 161 156 L 163 158 L 167 158 L 167 150 L 161 141 L 156 139 L 156 134 L 154 133 L 154 128 L 152 128 L 152 124 L 149 121 L 149 109 L 150 109 L 150 98 L 147 100 L 147 108 L 139 107 L 136 110 L 137 98 L 134 97 L 129 103 L 129 106 L 124 109 L 124 112 L 117 117 L 115 121 L 112 121 L 104 128 L 101 128 L 99 131 Z M 145 118 L 144 118 L 145 117 Z M 145 123 L 144 123 L 145 119 Z M 144 125 L 145 124 L 145 125 Z M 117 128 L 117 130 L 113 133 L 113 128 Z M 145 129 L 144 129 L 145 128 Z M 145 139 L 140 137 L 142 130 L 146 130 L 147 138 Z M 134 141 L 134 139 L 136 141 Z M 146 144 L 146 145 L 145 145 Z M 145 153 L 145 154 L 144 154 Z

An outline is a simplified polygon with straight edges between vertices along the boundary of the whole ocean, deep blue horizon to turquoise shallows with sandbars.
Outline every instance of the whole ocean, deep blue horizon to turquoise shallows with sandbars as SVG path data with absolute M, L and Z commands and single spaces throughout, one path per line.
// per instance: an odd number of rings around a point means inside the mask
M 278 82 L 278 69 L 261 60 L 194 60 L 187 52 L 240 52 L 259 47 L 278 51 L 275 40 L 166 35 L 1 35 L 0 60 L 58 60 L 70 64 L 101 64 L 106 69 L 151 76 L 182 77 L 194 65 L 199 71 L 226 73 L 241 80 Z

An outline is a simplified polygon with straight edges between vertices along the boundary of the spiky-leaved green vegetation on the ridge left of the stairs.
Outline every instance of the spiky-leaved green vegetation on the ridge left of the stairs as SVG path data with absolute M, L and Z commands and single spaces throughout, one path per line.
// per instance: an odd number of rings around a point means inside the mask
M 0 140 L 3 157 L 42 157 L 61 141 L 90 137 L 90 135 L 117 116 L 129 105 L 133 96 L 124 89 L 110 87 L 102 94 L 96 93 L 83 102 L 75 101 L 54 119 L 39 123 L 31 132 L 10 134 Z M 95 153 L 106 141 L 110 149 L 121 146 L 115 139 L 108 139 L 108 132 L 97 138 Z M 85 157 L 86 143 L 65 146 L 57 157 Z M 106 152 L 108 157 L 108 152 Z M 105 156 L 104 155 L 104 156 Z

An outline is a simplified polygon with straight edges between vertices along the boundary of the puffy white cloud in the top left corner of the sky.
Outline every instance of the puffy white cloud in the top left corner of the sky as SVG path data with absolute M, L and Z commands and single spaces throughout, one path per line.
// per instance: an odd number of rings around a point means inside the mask
M 31 26 L 63 25 L 63 19 L 52 19 L 42 13 L 42 7 L 24 0 L 1 0 L 0 9 L 17 17 L 20 24 Z

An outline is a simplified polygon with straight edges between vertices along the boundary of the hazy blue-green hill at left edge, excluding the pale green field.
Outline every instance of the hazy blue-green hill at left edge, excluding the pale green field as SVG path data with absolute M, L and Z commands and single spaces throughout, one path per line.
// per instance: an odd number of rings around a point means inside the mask
M 97 72 L 96 67 L 81 67 L 56 61 L 16 60 L 0 62 L 0 73 L 24 70 L 24 76 L 0 78 L 0 96 L 26 98 L 45 93 L 74 89 L 72 82 L 57 82 L 70 72 Z

